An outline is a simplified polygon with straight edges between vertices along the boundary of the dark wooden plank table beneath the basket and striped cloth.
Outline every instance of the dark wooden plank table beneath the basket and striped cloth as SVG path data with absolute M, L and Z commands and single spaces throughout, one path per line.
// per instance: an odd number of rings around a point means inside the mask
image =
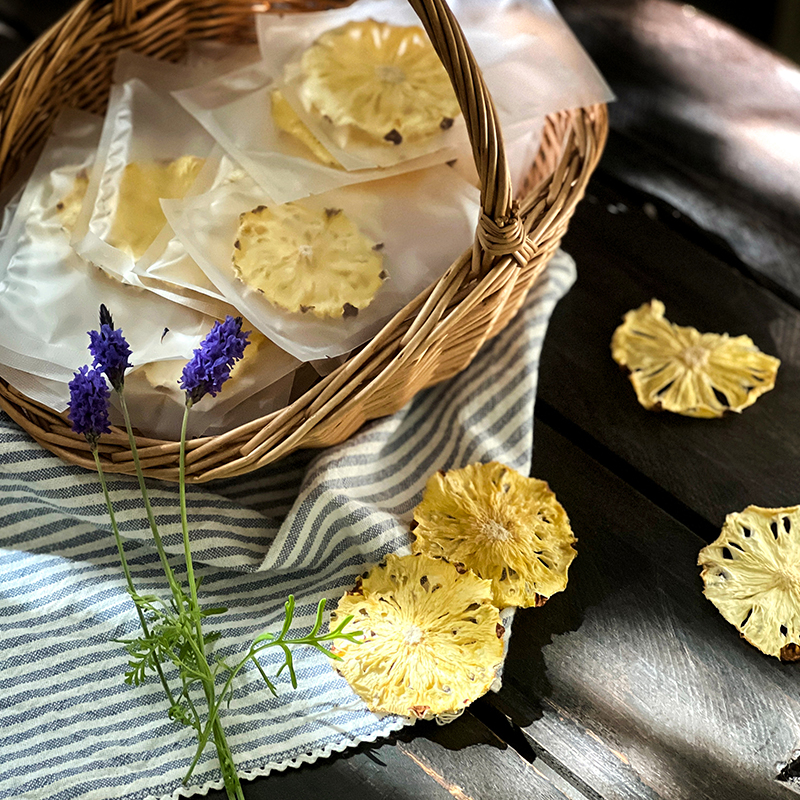
M 569 587 L 517 615 L 499 694 L 446 727 L 247 784 L 251 800 L 800 790 L 800 664 L 741 640 L 696 567 L 727 513 L 800 502 L 800 69 L 690 6 L 558 5 L 619 95 L 564 241 L 579 278 L 547 335 L 536 409 L 533 473 L 580 540 Z M 20 9 L 0 2 L 6 59 L 43 25 Z M 780 357 L 775 390 L 722 420 L 644 411 L 609 342 L 652 297 L 674 322 Z

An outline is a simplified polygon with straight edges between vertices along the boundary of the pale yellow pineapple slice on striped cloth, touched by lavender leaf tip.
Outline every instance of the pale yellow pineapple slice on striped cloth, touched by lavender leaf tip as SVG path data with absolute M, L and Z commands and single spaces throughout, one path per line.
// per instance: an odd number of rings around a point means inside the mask
M 359 579 L 331 615 L 352 615 L 358 644 L 333 663 L 371 711 L 430 719 L 485 694 L 503 659 L 491 586 L 427 556 L 389 555 Z M 340 640 L 342 641 L 342 640 Z

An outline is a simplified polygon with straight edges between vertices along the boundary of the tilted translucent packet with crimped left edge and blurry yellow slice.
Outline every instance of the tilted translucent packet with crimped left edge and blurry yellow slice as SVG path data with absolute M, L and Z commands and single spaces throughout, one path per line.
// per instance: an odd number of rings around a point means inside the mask
M 132 77 L 112 87 L 85 202 L 75 225 L 79 255 L 125 283 L 143 286 L 204 313 L 223 310 L 208 296 L 162 286 L 148 270 L 172 238 L 159 199 L 183 197 L 203 167 L 213 140 L 175 103 L 169 90 L 199 78 L 179 65 L 126 53 L 115 71 Z M 144 260 L 143 260 L 144 259 Z M 139 263 L 142 262 L 142 263 Z M 218 305 L 218 304 L 217 304 Z

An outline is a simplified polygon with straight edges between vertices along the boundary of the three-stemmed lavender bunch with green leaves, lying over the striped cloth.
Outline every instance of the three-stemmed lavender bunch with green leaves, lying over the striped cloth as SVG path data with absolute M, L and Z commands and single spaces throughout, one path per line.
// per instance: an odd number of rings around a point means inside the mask
M 114 330 L 113 320 L 105 306 L 100 306 L 100 330 L 92 331 L 89 334 L 91 339 L 89 349 L 94 356 L 95 369 L 90 369 L 89 367 L 81 368 L 79 372 L 75 373 L 75 379 L 70 384 L 72 393 L 70 419 L 73 422 L 73 430 L 83 433 L 92 445 L 92 453 L 97 465 L 100 483 L 103 487 L 112 528 L 117 541 L 117 548 L 128 582 L 128 591 L 136 606 L 144 634 L 135 639 L 122 640 L 130 657 L 128 661 L 129 670 L 126 673 L 125 680 L 127 683 L 140 684 L 145 680 L 149 670 L 155 669 L 158 672 L 169 700 L 170 719 L 193 728 L 198 737 L 195 757 L 184 777 L 184 783 L 192 775 L 206 745 L 213 741 L 219 757 L 220 769 L 229 800 L 244 800 L 244 793 L 236 771 L 233 753 L 219 716 L 223 704 L 229 704 L 233 696 L 233 681 L 236 675 L 246 665 L 252 664 L 261 674 L 270 691 L 274 693 L 276 691 L 275 686 L 259 663 L 258 655 L 266 648 L 279 647 L 284 653 L 284 666 L 288 668 L 292 686 L 296 687 L 297 676 L 290 647 L 307 645 L 327 653 L 332 658 L 336 658 L 325 647 L 325 643 L 339 638 L 354 641 L 354 637 L 357 635 L 355 633 L 346 633 L 344 630 L 350 618 L 335 630 L 331 630 L 327 634 L 321 633 L 325 608 L 325 601 L 322 600 L 317 607 L 317 619 L 311 633 L 304 637 L 290 638 L 288 634 L 294 616 L 294 597 L 290 596 L 286 603 L 284 624 L 279 634 L 263 633 L 258 636 L 250 646 L 250 649 L 240 657 L 235 665 L 229 665 L 222 659 L 212 662 L 208 658 L 207 646 L 216 641 L 220 634 L 218 632 L 206 634 L 203 631 L 203 620 L 208 616 L 224 613 L 226 609 L 202 608 L 198 600 L 197 590 L 201 581 L 195 580 L 186 508 L 187 421 L 189 411 L 194 403 L 198 402 L 206 394 L 210 394 L 213 397 L 222 389 L 222 385 L 230 377 L 231 369 L 242 358 L 244 350 L 249 344 L 247 340 L 249 335 L 249 331 L 242 332 L 241 317 L 229 316 L 222 323 L 216 322 L 211 332 L 200 344 L 200 347 L 194 351 L 194 355 L 184 368 L 181 378 L 181 388 L 186 392 L 186 407 L 181 428 L 179 490 L 188 593 L 184 591 L 183 586 L 177 580 L 167 559 L 148 499 L 144 474 L 136 448 L 136 440 L 133 436 L 133 429 L 128 415 L 123 386 L 125 370 L 131 366 L 128 360 L 128 356 L 131 355 L 131 349 L 128 347 L 122 331 Z M 139 479 L 139 486 L 153 532 L 153 539 L 161 557 L 167 581 L 172 589 L 171 602 L 163 601 L 155 595 L 141 596 L 133 586 L 97 450 L 97 439 L 100 434 L 110 431 L 108 425 L 109 390 L 103 378 L 103 373 L 105 373 L 117 392 L 125 419 L 125 428 L 128 432 L 134 469 Z M 179 692 L 173 693 L 171 691 L 161 668 L 162 662 L 172 662 L 177 667 L 181 684 Z M 283 667 L 278 670 L 277 674 L 280 675 L 282 671 Z M 221 692 L 218 691 L 217 687 L 218 679 L 224 679 Z M 202 713 L 203 709 L 195 702 L 199 694 L 202 694 L 205 698 L 205 714 Z

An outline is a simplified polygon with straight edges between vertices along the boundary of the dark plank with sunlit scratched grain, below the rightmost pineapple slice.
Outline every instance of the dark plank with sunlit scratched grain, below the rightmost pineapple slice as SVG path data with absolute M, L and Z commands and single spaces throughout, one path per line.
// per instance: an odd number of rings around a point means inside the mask
M 774 777 L 800 742 L 796 665 L 704 599 L 697 536 L 541 423 L 535 442 L 579 556 L 565 593 L 518 614 L 496 705 L 587 796 L 795 796 Z

